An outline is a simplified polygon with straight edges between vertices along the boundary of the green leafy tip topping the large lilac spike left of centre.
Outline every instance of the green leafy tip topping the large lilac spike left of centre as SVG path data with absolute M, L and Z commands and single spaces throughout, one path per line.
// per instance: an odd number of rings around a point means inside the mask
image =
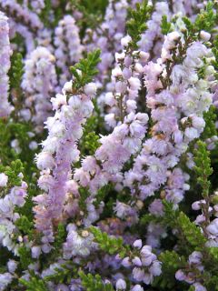
M 78 64 L 70 67 L 70 71 L 74 75 L 73 89 L 75 92 L 93 81 L 94 75 L 98 73 L 96 65 L 101 61 L 100 55 L 101 50 L 96 49 L 81 59 Z

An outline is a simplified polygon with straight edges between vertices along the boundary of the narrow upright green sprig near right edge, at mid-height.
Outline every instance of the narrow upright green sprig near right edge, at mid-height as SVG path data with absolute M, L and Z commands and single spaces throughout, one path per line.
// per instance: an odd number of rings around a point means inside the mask
M 198 141 L 197 146 L 197 149 L 194 150 L 194 171 L 198 176 L 198 184 L 203 188 L 203 197 L 205 198 L 209 195 L 211 182 L 208 177 L 212 175 L 213 168 L 206 144 L 203 141 Z

